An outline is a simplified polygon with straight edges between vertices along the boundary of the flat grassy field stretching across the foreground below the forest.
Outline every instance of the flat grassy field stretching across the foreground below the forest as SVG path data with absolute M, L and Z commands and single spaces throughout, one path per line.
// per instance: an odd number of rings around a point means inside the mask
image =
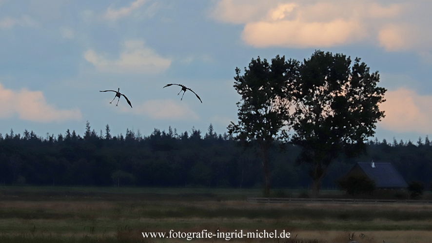
M 259 189 L 0 187 L 0 242 L 188 242 L 144 239 L 141 234 L 170 230 L 213 234 L 285 230 L 291 233 L 289 243 L 347 243 L 349 232 L 355 232 L 359 243 L 432 242 L 430 204 L 246 202 L 260 193 Z

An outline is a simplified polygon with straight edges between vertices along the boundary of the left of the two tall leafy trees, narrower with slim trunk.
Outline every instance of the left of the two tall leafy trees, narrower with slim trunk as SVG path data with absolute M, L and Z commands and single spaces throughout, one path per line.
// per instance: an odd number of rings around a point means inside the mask
M 241 102 L 237 102 L 238 123 L 231 122 L 228 130 L 230 135 L 236 134 L 237 140 L 259 145 L 265 197 L 270 195 L 271 186 L 269 149 L 276 138 L 286 135 L 283 128 L 289 120 L 290 88 L 298 65 L 298 61 L 276 56 L 271 64 L 259 57 L 252 59 L 244 75 L 236 68 L 234 87 Z

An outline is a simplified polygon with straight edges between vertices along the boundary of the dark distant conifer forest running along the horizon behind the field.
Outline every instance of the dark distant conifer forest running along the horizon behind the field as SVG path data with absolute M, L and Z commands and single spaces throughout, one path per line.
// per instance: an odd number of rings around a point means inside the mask
M 64 135 L 0 134 L 0 183 L 4 185 L 92 185 L 163 187 L 261 187 L 261 161 L 256 144 L 247 146 L 226 134 L 216 134 L 210 124 L 203 135 L 192 128 L 177 134 L 155 129 L 142 136 L 127 129 L 113 136 L 109 125 L 97 133 L 86 124 L 83 136 L 69 129 Z M 275 142 L 270 153 L 273 188 L 308 188 L 309 165 L 298 164 L 301 150 Z M 355 162 L 392 162 L 407 182 L 421 181 L 429 189 L 432 144 L 377 140 L 367 143 L 367 154 L 341 156 L 329 168 L 321 189 L 334 183 Z

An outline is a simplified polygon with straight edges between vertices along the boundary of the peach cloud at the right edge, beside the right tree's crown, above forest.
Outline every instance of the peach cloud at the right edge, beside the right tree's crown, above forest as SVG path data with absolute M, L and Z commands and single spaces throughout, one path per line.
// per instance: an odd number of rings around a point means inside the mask
M 380 104 L 386 117 L 380 125 L 393 132 L 432 132 L 432 96 L 418 95 L 414 91 L 399 88 L 387 91 L 386 101 Z

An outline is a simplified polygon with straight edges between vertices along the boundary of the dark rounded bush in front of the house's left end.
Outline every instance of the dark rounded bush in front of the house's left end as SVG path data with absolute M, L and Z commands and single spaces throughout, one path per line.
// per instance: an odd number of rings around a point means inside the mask
M 375 190 L 375 182 L 363 175 L 351 175 L 336 181 L 341 190 L 350 195 L 369 193 Z

